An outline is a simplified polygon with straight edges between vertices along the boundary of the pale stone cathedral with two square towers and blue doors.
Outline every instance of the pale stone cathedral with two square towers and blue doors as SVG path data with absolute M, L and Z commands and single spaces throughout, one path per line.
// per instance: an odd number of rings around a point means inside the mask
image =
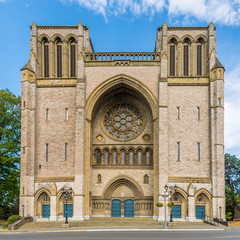
M 156 204 L 171 192 L 175 221 L 224 218 L 224 67 L 215 33 L 212 22 L 164 23 L 153 52 L 95 52 L 81 22 L 33 22 L 21 69 L 20 214 L 62 221 L 67 208 L 69 221 L 163 221 Z

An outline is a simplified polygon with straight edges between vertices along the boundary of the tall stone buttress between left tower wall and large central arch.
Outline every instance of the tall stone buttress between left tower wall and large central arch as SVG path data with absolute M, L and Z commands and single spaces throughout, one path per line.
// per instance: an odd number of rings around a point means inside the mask
M 75 188 L 74 188 L 74 213 L 73 220 L 84 220 L 85 203 L 85 162 L 87 161 L 85 151 L 85 72 L 84 60 L 81 48 L 83 44 L 83 26 L 78 24 L 78 60 L 77 60 L 77 84 L 76 84 L 76 123 L 75 123 Z M 90 148 L 88 148 L 90 151 Z

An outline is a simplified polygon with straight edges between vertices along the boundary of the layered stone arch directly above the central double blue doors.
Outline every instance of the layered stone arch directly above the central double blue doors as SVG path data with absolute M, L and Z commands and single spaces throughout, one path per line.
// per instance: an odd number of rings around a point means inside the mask
M 121 175 L 110 181 L 103 190 L 103 199 L 111 199 L 113 192 L 120 186 L 126 186 L 132 190 L 136 199 L 143 198 L 144 194 L 140 185 L 132 178 Z

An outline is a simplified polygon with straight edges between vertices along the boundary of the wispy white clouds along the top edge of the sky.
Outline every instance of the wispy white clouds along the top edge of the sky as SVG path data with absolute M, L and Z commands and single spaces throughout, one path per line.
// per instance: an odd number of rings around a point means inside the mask
M 5 0 L 0 0 L 5 1 Z M 81 7 L 102 14 L 131 13 L 153 17 L 166 10 L 169 17 L 193 17 L 201 21 L 240 25 L 240 0 L 60 0 L 77 2 Z

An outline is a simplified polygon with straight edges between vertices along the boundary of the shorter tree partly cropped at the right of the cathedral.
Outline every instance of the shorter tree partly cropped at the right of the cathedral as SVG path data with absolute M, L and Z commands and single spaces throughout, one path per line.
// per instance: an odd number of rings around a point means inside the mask
M 226 210 L 233 218 L 240 214 L 240 160 L 235 155 L 225 154 Z

